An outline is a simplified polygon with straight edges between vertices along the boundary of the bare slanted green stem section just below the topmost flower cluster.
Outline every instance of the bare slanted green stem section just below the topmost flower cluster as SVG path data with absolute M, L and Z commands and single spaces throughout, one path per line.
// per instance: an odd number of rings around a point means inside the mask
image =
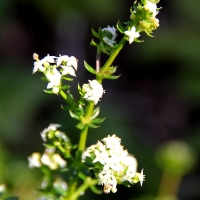
M 123 37 L 119 42 L 117 48 L 112 52 L 112 54 L 110 55 L 104 66 L 101 68 L 100 70 L 101 74 L 103 74 L 109 69 L 109 67 L 112 65 L 113 61 L 115 60 L 115 58 L 117 57 L 117 55 L 119 54 L 119 52 L 121 51 L 126 42 L 127 40 L 125 40 L 125 37 Z

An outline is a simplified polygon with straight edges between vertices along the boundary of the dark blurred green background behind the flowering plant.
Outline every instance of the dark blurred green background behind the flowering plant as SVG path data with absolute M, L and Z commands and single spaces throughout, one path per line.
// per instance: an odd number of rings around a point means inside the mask
M 91 28 L 127 21 L 132 4 L 132 0 L 1 0 L 0 184 L 6 183 L 8 195 L 36 198 L 39 174 L 28 168 L 27 157 L 43 151 L 40 131 L 59 123 L 72 142 L 79 138 L 76 123 L 60 108 L 63 100 L 45 94 L 41 74 L 32 75 L 32 54 L 77 57 L 79 69 L 72 83 L 77 93 L 78 82 L 93 78 L 83 67 L 83 60 L 95 65 Z M 95 196 L 87 191 L 82 199 L 154 200 L 164 172 L 157 149 L 181 140 L 197 158 L 200 154 L 200 1 L 161 0 L 159 7 L 155 38 L 143 34 L 144 43 L 127 43 L 114 62 L 121 77 L 104 81 L 106 93 L 99 105 L 106 121 L 90 131 L 87 143 L 108 134 L 121 137 L 137 157 L 138 170 L 144 168 L 146 181 L 142 188 L 119 186 L 117 194 Z M 173 152 L 178 157 L 177 151 Z M 200 199 L 199 160 L 180 179 L 177 197 L 165 199 Z

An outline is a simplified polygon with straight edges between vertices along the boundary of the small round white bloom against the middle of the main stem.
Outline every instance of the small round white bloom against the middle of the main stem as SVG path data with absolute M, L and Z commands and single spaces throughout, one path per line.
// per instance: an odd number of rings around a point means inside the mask
M 83 90 L 86 92 L 83 98 L 94 101 L 95 104 L 98 103 L 104 93 L 102 85 L 97 80 L 89 80 L 89 84 L 83 85 Z

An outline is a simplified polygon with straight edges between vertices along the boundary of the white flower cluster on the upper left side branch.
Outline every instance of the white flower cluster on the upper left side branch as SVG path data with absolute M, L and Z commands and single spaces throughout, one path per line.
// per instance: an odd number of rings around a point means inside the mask
M 35 60 L 33 73 L 43 72 L 48 81 L 47 89 L 51 89 L 54 94 L 58 94 L 62 87 L 62 80 L 67 80 L 67 75 L 76 76 L 75 71 L 78 64 L 74 56 L 56 57 L 47 55 L 39 60 L 39 56 L 34 53 L 33 59 Z

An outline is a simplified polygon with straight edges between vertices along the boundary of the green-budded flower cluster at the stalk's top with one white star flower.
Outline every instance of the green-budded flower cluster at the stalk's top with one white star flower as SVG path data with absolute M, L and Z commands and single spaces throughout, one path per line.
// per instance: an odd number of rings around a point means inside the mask
M 138 41 L 140 32 L 146 32 L 147 35 L 151 36 L 152 31 L 159 26 L 159 20 L 156 18 L 158 14 L 156 4 L 158 2 L 159 0 L 142 0 L 142 5 L 136 6 L 136 3 L 134 4 L 134 10 L 131 10 L 130 16 L 132 21 L 127 23 L 128 29 L 124 31 L 129 44 L 134 40 Z

